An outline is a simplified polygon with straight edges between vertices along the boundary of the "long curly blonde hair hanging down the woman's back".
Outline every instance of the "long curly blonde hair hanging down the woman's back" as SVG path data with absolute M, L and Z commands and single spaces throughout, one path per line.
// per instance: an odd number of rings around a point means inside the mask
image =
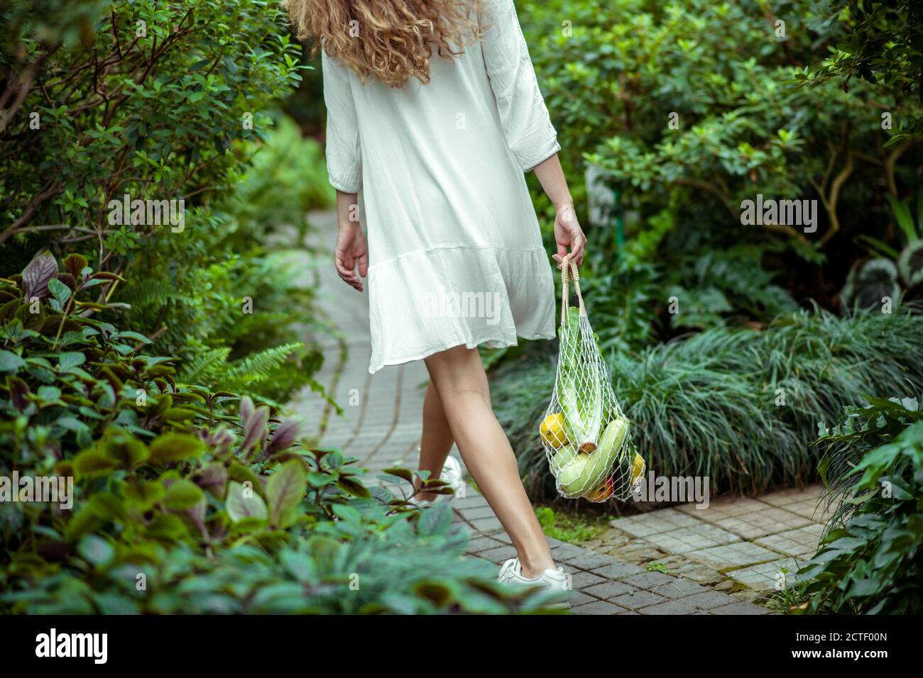
M 323 46 L 363 82 L 429 82 L 432 46 L 452 59 L 480 42 L 483 0 L 282 0 L 295 37 Z M 322 43 L 322 45 L 321 45 Z

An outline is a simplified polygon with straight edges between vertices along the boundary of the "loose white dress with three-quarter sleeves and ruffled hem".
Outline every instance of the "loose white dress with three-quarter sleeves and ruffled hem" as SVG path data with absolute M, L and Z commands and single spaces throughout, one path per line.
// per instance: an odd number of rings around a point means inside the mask
M 560 146 L 512 0 L 480 45 L 401 89 L 323 54 L 330 184 L 359 193 L 369 372 L 465 345 L 555 336 L 553 263 L 523 172 Z M 435 52 L 435 51 L 434 51 Z

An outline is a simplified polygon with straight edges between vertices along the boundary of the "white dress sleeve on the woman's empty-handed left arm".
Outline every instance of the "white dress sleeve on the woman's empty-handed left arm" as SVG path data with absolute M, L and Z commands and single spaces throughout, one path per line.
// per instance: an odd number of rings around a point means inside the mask
M 349 73 L 323 50 L 321 69 L 327 104 L 327 174 L 334 188 L 358 193 L 362 188 L 362 149 Z

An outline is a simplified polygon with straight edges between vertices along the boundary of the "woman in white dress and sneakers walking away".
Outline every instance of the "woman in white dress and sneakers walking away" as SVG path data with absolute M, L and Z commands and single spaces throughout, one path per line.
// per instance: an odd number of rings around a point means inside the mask
M 523 172 L 557 208 L 558 268 L 564 256 L 580 266 L 586 242 L 512 0 L 287 8 L 298 38 L 322 48 L 334 260 L 355 290 L 368 278 L 369 372 L 424 360 L 420 470 L 459 482 L 456 443 L 519 554 L 500 581 L 564 589 L 477 351 L 555 336 L 552 268 Z

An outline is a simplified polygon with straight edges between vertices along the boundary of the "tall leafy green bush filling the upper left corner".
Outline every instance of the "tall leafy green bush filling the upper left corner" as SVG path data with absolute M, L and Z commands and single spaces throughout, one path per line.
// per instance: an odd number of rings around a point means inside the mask
M 303 68 L 281 8 L 18 2 L 0 39 L 10 268 L 48 249 L 125 278 L 99 298 L 129 304 L 126 323 L 185 360 L 180 379 L 278 402 L 319 388 L 314 335 L 330 329 L 272 253 L 277 227 L 303 236 L 306 211 L 329 204 L 317 144 L 284 118 L 272 131 Z M 184 223 L 111 223 L 126 195 L 183 199 Z

